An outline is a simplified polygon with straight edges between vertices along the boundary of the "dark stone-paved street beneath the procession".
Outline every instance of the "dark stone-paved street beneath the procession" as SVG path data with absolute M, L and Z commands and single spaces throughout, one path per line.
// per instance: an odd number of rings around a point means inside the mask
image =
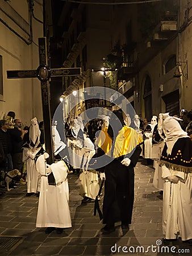
M 93 216 L 94 203 L 81 205 L 78 175 L 68 175 L 73 223 L 62 234 L 45 234 L 44 228 L 35 227 L 38 197 L 25 197 L 26 185 L 10 192 L 1 188 L 0 255 L 192 255 L 192 248 L 181 241 L 170 242 L 166 253 L 164 247 L 157 246 L 163 237 L 162 196 L 152 185 L 154 169 L 141 161 L 135 167 L 132 224 L 123 236 L 120 223 L 111 234 L 100 232 L 103 224 L 98 214 Z M 170 253 L 173 246 L 172 251 L 182 249 L 181 253 Z

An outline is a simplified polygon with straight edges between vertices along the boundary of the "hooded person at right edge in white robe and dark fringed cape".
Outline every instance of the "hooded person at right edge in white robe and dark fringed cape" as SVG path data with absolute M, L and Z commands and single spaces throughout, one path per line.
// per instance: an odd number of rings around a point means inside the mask
M 179 118 L 160 114 L 159 130 L 164 131 L 161 155 L 164 196 L 162 230 L 165 241 L 181 237 L 192 242 L 192 142 L 182 130 Z

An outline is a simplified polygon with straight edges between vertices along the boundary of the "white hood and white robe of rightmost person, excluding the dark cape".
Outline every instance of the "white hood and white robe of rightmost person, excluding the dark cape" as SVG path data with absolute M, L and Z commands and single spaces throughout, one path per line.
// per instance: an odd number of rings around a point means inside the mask
M 164 116 L 165 115 L 165 116 Z M 161 127 L 165 134 L 167 155 L 172 154 L 174 144 L 179 138 L 187 138 L 174 117 L 163 117 Z M 188 137 L 189 138 L 189 137 Z M 183 156 L 185 159 L 185 156 Z M 192 159 L 192 155 L 191 155 Z M 184 161 L 183 161 L 184 162 Z M 169 177 L 178 177 L 178 183 L 169 181 Z M 182 241 L 192 239 L 192 174 L 178 171 L 171 164 L 169 168 L 162 162 L 162 179 L 164 179 L 162 231 L 166 239 L 181 237 Z

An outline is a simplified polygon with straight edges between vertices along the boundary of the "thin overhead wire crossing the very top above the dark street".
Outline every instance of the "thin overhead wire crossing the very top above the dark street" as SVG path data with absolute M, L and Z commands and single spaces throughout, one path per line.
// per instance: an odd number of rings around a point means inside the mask
M 76 1 L 76 0 L 61 0 L 65 2 L 72 2 L 72 3 L 85 3 L 85 4 L 91 4 L 91 5 L 132 5 L 133 3 L 152 3 L 152 2 L 160 2 L 164 0 L 144 0 L 144 1 L 132 1 L 132 2 L 85 2 L 85 1 Z

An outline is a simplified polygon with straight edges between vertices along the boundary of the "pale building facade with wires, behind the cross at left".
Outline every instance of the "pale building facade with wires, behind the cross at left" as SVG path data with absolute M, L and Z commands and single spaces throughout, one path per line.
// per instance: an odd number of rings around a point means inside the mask
M 23 125 L 42 120 L 38 79 L 7 79 L 9 70 L 39 66 L 38 38 L 43 36 L 43 1 L 0 1 L 0 114 L 14 111 Z

